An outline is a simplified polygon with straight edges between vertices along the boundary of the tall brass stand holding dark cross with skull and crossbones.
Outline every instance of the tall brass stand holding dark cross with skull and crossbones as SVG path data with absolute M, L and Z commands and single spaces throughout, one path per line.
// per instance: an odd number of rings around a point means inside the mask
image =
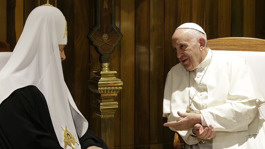
M 109 149 L 114 149 L 114 113 L 118 103 L 114 97 L 122 90 L 122 81 L 109 70 L 115 47 L 120 44 L 122 34 L 115 22 L 115 0 L 96 0 L 96 26 L 87 35 L 99 53 L 100 71 L 89 80 L 89 89 L 96 94 L 93 107 L 96 111 L 95 134 L 101 137 Z

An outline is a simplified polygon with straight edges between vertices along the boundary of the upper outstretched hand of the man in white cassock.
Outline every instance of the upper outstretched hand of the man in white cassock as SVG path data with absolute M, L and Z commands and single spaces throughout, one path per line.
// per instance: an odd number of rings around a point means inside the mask
M 180 120 L 165 123 L 164 126 L 172 127 L 177 131 L 188 130 L 193 128 L 195 124 L 201 124 L 201 115 L 196 113 L 181 113 L 178 115 L 182 117 Z

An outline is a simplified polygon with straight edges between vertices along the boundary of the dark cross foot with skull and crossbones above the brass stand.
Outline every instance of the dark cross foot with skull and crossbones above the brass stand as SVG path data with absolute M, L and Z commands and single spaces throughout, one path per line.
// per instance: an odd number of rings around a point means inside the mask
M 112 3 L 112 7 L 111 4 Z M 115 21 L 115 0 L 96 0 L 96 26 L 87 34 L 100 54 L 100 63 L 110 63 L 109 54 L 114 52 L 123 37 Z

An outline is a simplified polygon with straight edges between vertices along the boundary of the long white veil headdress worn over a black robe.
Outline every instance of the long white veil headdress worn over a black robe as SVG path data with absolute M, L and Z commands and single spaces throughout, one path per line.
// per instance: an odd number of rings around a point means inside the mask
M 59 9 L 35 8 L 28 16 L 10 59 L 0 71 L 0 103 L 16 89 L 36 86 L 47 101 L 56 136 L 63 148 L 61 127 L 67 126 L 77 141 L 88 128 L 63 78 L 58 44 L 67 43 L 65 30 L 65 18 Z M 77 143 L 75 146 L 81 148 Z

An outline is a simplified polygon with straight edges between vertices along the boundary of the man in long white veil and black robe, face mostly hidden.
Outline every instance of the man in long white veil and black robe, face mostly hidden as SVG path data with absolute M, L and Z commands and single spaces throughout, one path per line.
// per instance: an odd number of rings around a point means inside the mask
M 59 9 L 39 6 L 29 14 L 0 68 L 0 148 L 108 149 L 87 130 L 64 82 L 66 44 L 67 23 Z

